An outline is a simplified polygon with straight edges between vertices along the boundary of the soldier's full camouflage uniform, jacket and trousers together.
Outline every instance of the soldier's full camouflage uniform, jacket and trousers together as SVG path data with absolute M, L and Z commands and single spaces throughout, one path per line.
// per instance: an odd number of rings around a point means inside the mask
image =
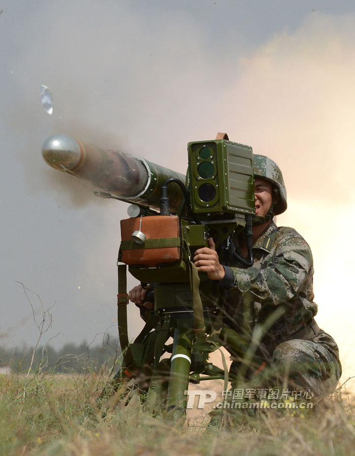
M 233 242 L 238 245 L 237 239 Z M 255 328 L 264 331 L 256 359 L 266 362 L 264 373 L 272 370 L 271 381 L 278 377 L 282 382 L 287 376 L 293 388 L 309 388 L 316 395 L 334 391 L 341 375 L 339 352 L 334 339 L 313 320 L 317 305 L 308 244 L 292 228 L 271 221 L 253 252 L 251 268 L 235 259 L 224 261 L 226 275 L 219 283 L 227 290 L 224 326 L 249 343 Z M 238 371 L 240 362 L 235 358 L 231 372 Z

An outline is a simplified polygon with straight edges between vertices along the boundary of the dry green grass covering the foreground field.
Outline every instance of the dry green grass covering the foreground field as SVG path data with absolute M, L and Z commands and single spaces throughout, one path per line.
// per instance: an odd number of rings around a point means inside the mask
M 240 413 L 231 426 L 208 418 L 177 427 L 153 419 L 134 396 L 107 413 L 95 398 L 105 379 L 94 373 L 0 375 L 0 454 L 24 455 L 288 455 L 354 454 L 355 408 L 345 391 L 292 416 Z

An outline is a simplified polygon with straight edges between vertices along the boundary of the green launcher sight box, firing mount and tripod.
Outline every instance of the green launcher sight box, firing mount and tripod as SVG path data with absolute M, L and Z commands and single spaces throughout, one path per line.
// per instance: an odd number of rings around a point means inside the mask
M 224 293 L 205 273 L 197 273 L 193 265 L 194 252 L 208 247 L 210 236 L 216 246 L 221 245 L 228 236 L 243 230 L 245 215 L 255 214 L 253 150 L 250 146 L 225 139 L 190 142 L 188 155 L 190 204 L 200 224 L 188 217 L 182 205 L 175 216 L 179 218 L 175 237 L 161 238 L 158 232 L 138 245 L 127 239 L 125 233 L 119 253 L 119 260 L 124 261 L 124 252 L 128 258 L 140 249 L 158 251 L 179 246 L 179 257 L 173 262 L 152 266 L 135 264 L 134 259 L 126 260 L 133 277 L 142 283 L 155 284 L 154 310 L 147 321 L 149 326 L 154 320 L 155 329 L 144 338 L 138 337 L 131 345 L 134 366 L 151 377 L 147 392 L 152 411 L 168 411 L 175 420 L 185 416 L 185 393 L 189 382 L 225 378 L 223 370 L 208 362 L 209 353 L 224 345 L 226 340 L 229 350 L 238 355 L 247 348 L 235 331 L 228 329 L 227 337 L 226 329 L 221 327 L 219 310 L 223 306 Z M 149 225 L 150 219 L 157 221 L 157 217 L 161 217 L 161 226 L 169 221 L 159 214 L 140 215 L 136 217 L 136 223 L 140 218 L 139 226 L 145 232 L 144 227 Z M 142 251 L 141 257 L 144 254 Z M 140 259 L 140 256 L 135 258 Z M 169 337 L 173 338 L 171 346 L 165 345 Z M 165 351 L 171 353 L 170 359 L 160 360 Z M 229 374 L 229 379 L 232 378 L 236 377 Z

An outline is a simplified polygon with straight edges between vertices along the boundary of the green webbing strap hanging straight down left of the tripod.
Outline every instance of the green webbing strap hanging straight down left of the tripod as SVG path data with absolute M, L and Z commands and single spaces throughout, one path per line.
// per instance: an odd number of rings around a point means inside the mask
M 126 264 L 120 264 L 118 267 L 118 301 L 117 301 L 117 322 L 118 335 L 123 355 L 125 367 L 131 367 L 133 364 L 133 355 L 129 346 L 128 330 L 127 330 L 127 275 Z M 120 296 L 122 301 L 120 302 Z M 125 305 L 126 304 L 126 305 Z

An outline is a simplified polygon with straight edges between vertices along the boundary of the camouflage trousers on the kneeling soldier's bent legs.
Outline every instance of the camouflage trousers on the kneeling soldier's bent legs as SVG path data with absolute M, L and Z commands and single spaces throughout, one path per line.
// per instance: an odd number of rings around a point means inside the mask
M 230 371 L 237 373 L 238 367 L 238 363 L 233 362 Z M 267 366 L 248 376 L 247 383 L 264 388 L 308 390 L 321 397 L 335 390 L 340 375 L 338 347 L 321 329 L 309 340 L 290 339 L 279 344 Z

